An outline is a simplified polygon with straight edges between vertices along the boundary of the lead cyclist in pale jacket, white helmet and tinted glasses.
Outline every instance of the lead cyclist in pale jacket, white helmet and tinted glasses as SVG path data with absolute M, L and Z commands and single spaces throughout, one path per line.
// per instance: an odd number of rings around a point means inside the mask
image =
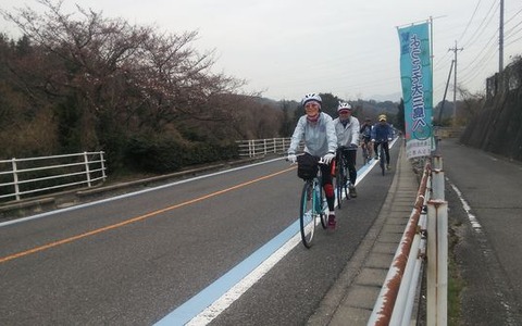
M 304 141 L 304 155 L 323 158 L 326 164 L 320 164 L 322 186 L 328 204 L 328 228 L 335 229 L 335 193 L 332 185 L 332 160 L 337 149 L 337 137 L 332 116 L 321 111 L 322 100 L 316 93 L 306 95 L 301 100 L 304 115 L 297 122 L 288 148 L 288 161 L 296 163 L 296 151 L 301 140 Z

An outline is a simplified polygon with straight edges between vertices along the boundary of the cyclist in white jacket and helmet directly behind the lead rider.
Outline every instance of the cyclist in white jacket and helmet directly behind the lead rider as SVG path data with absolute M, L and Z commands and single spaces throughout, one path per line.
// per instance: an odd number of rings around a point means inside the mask
M 359 120 L 351 115 L 352 111 L 353 109 L 349 103 L 339 102 L 337 106 L 339 116 L 334 120 L 334 125 L 337 135 L 337 150 L 341 151 L 341 155 L 345 156 L 348 165 L 350 178 L 349 195 L 351 198 L 356 198 L 356 159 L 359 142 Z

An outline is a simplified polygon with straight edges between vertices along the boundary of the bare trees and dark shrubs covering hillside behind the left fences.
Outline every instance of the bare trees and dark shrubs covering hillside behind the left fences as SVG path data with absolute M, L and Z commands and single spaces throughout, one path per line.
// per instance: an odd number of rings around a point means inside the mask
M 288 137 L 303 113 L 213 73 L 213 52 L 192 47 L 196 32 L 39 2 L 46 12 L 0 11 L 23 34 L 0 34 L 0 159 L 102 150 L 109 173 L 165 173 L 234 159 L 238 139 Z M 322 96 L 335 116 L 340 99 Z M 391 102 L 353 104 L 360 117 L 397 114 Z

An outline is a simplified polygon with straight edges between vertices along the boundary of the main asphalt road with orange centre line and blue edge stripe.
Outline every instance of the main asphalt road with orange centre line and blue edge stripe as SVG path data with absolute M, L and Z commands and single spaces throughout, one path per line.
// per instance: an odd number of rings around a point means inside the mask
M 369 171 L 335 233 L 291 247 L 212 324 L 304 324 L 393 177 Z M 297 234 L 301 186 L 295 166 L 273 160 L 0 224 L 0 325 L 152 325 L 188 304 L 175 316 L 185 321 L 192 301 L 219 297 Z

